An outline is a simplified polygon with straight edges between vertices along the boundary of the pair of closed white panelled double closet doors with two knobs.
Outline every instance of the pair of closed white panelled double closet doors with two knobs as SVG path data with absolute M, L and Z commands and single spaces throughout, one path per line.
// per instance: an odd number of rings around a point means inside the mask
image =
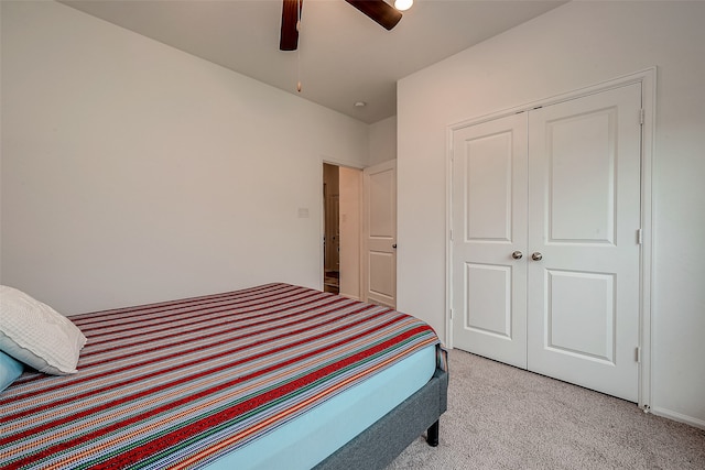
M 640 111 L 632 84 L 454 131 L 455 347 L 638 400 Z

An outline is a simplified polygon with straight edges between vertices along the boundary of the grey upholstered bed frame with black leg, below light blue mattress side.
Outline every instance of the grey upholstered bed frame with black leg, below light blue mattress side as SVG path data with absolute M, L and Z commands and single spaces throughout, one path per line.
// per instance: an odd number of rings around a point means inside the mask
M 316 470 L 383 469 L 424 431 L 438 445 L 438 418 L 447 409 L 448 373 L 433 378 L 399 406 L 336 450 Z

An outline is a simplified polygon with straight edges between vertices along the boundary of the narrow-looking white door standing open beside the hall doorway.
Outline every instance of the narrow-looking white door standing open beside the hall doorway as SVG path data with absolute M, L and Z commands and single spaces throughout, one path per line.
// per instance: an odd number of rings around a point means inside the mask
M 397 306 L 397 161 L 362 172 L 364 296 Z

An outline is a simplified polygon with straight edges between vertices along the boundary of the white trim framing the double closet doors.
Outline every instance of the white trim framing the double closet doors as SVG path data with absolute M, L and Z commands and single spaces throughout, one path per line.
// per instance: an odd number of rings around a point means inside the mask
M 655 92 L 657 67 L 650 67 L 633 74 L 617 77 L 589 87 L 579 88 L 553 97 L 532 101 L 525 105 L 500 110 L 489 114 L 470 118 L 446 127 L 446 284 L 445 284 L 445 343 L 453 348 L 453 133 L 456 130 L 514 114 L 531 109 L 555 105 L 587 95 L 594 95 L 611 88 L 630 84 L 641 84 L 641 273 L 640 273 L 640 311 L 639 311 L 639 398 L 638 405 L 644 412 L 651 409 L 651 302 L 652 302 L 652 256 L 653 256 L 653 219 L 652 219 L 652 178 L 653 144 L 655 130 Z M 634 117 L 639 119 L 639 117 Z

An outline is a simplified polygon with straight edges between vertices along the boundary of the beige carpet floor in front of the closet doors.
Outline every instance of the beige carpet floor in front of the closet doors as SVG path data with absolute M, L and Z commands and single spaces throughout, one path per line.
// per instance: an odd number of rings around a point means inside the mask
M 705 469 L 705 430 L 636 404 L 449 351 L 441 445 L 416 439 L 392 469 Z

